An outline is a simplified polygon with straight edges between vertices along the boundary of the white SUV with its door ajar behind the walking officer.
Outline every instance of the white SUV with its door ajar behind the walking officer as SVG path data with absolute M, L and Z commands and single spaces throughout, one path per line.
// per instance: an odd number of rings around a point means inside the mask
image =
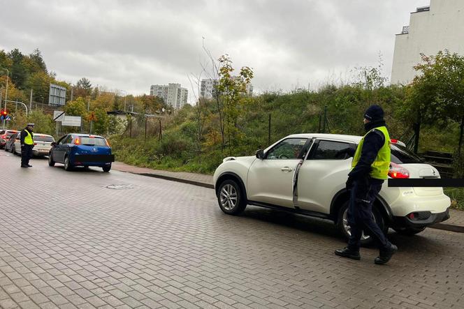
M 360 140 L 351 135 L 296 134 L 256 151 L 256 156 L 225 158 L 213 178 L 219 207 L 231 215 L 252 204 L 325 218 L 348 237 L 345 182 Z M 440 173 L 392 140 L 389 177 L 439 178 Z M 392 227 L 412 235 L 447 220 L 450 204 L 442 188 L 389 188 L 385 181 L 373 213 L 384 232 Z M 363 243 L 369 241 L 363 235 Z

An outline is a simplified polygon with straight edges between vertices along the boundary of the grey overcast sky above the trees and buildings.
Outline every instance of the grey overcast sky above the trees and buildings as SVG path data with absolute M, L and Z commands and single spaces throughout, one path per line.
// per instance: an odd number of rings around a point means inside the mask
M 254 69 L 255 91 L 314 89 L 360 66 L 390 77 L 395 34 L 430 0 L 0 0 L 0 49 L 41 50 L 59 80 L 150 93 L 189 89 L 208 58 Z M 204 38 L 204 40 L 203 40 Z

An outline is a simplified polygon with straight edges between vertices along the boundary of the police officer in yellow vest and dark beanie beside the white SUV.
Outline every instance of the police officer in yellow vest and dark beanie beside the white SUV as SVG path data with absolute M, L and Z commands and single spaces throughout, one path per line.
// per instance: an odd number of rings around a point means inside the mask
M 356 149 L 347 181 L 347 190 L 351 191 L 347 213 L 351 236 L 348 246 L 335 250 L 335 255 L 361 259 L 359 247 L 364 231 L 379 246 L 375 264 L 385 264 L 398 248 L 386 239 L 372 215 L 372 204 L 388 178 L 390 167 L 390 137 L 382 107 L 372 105 L 365 111 L 364 127 L 367 133 Z

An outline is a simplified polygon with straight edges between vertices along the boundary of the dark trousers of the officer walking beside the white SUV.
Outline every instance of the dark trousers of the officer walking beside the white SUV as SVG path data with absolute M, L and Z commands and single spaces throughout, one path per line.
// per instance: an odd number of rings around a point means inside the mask
M 391 246 L 382 229 L 375 223 L 372 214 L 372 204 L 374 204 L 376 195 L 382 189 L 383 182 L 377 179 L 354 182 L 347 213 L 348 225 L 351 227 L 348 248 L 351 250 L 359 250 L 363 231 L 374 239 L 380 250 Z

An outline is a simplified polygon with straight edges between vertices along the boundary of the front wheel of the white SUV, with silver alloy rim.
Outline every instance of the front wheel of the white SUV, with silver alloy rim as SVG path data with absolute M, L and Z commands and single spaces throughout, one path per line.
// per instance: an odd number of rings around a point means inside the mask
M 232 179 L 226 179 L 219 185 L 217 202 L 224 213 L 238 215 L 247 206 L 244 195 L 238 183 Z

